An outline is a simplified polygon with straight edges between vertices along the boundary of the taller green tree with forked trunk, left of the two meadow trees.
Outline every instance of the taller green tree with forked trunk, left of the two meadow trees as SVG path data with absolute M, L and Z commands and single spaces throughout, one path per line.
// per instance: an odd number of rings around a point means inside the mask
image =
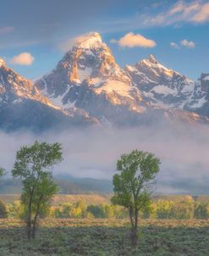
M 58 186 L 52 177 L 52 167 L 62 161 L 59 143 L 35 142 L 32 146 L 21 147 L 16 153 L 12 174 L 21 179 L 23 192 L 21 203 L 24 207 L 27 236 L 36 236 L 38 217 L 49 208 L 52 196 Z

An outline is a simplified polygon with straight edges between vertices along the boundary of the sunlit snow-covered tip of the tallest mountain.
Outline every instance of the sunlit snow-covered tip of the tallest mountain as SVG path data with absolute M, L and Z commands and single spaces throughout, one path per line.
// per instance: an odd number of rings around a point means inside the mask
M 97 32 L 91 32 L 82 36 L 78 36 L 74 40 L 74 47 L 88 49 L 92 47 L 101 47 L 102 36 Z

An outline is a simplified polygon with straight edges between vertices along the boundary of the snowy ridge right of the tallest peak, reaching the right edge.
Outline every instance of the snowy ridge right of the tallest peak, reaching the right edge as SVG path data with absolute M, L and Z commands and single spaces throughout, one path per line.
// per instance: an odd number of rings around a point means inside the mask
M 127 65 L 125 70 L 151 106 L 209 117 L 209 74 L 202 74 L 199 81 L 191 81 L 164 67 L 152 55 L 135 66 Z

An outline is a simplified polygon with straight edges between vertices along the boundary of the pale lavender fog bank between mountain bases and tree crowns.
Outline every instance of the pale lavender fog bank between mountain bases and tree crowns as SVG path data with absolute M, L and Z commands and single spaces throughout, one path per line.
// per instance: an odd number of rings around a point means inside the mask
M 1 132 L 0 166 L 8 175 L 19 147 L 36 140 L 62 143 L 63 162 L 54 168 L 54 175 L 111 180 L 120 155 L 139 149 L 155 153 L 161 159 L 161 170 L 157 175 L 157 189 L 161 192 L 186 192 L 187 186 L 190 186 L 189 191 L 193 188 L 196 191 L 198 186 L 201 192 L 201 187 L 205 189 L 209 180 L 209 134 L 204 125 L 161 124 L 133 129 L 100 127 L 54 131 L 41 136 L 24 131 Z

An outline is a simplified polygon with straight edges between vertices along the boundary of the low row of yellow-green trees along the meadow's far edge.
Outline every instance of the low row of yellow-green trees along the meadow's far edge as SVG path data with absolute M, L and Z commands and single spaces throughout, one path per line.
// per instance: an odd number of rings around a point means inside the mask
M 151 202 L 149 211 L 140 211 L 141 219 L 208 219 L 209 202 L 197 202 L 188 197 L 184 201 L 176 202 L 172 200 L 158 199 Z M 14 203 L 0 202 L 0 218 L 23 218 L 24 209 L 20 201 Z M 60 203 L 52 205 L 46 213 L 42 213 L 41 218 L 115 218 L 127 219 L 129 213 L 127 209 L 119 205 L 108 203 L 87 204 L 85 201 L 77 203 Z

